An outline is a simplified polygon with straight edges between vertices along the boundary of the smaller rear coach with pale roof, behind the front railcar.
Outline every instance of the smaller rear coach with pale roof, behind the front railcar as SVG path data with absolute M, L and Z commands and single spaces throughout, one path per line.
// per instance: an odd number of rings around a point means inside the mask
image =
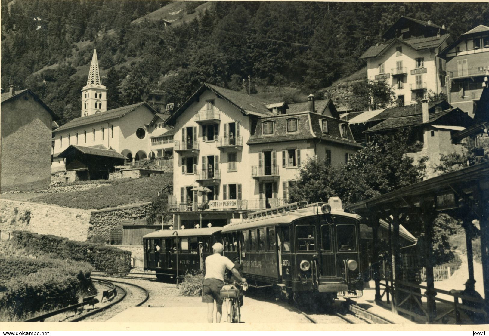
M 222 242 L 222 227 L 159 230 L 143 237 L 144 269 L 156 271 L 158 280 L 171 280 L 187 271 L 203 269 L 214 243 Z M 178 251 L 178 253 L 177 253 Z M 177 262 L 178 260 L 178 262 Z

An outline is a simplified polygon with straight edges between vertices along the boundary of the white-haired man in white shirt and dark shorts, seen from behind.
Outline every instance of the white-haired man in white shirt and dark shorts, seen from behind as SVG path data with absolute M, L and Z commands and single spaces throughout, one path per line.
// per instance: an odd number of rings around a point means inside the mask
M 202 287 L 202 302 L 207 303 L 207 322 L 214 321 L 214 300 L 216 300 L 216 322 L 221 322 L 222 316 L 222 297 L 221 289 L 224 286 L 224 272 L 229 269 L 234 276 L 246 282 L 242 278 L 239 271 L 235 268 L 235 264 L 229 258 L 221 255 L 224 246 L 221 243 L 216 243 L 212 246 L 214 254 L 205 258 L 205 276 Z

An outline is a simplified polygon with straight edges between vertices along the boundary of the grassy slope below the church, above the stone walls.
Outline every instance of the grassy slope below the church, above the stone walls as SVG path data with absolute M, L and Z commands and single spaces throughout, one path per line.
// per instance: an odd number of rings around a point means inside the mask
M 54 204 L 79 209 L 104 209 L 120 205 L 150 202 L 158 191 L 173 184 L 173 174 L 162 174 L 141 179 L 114 180 L 110 187 L 86 191 L 44 194 L 31 202 Z

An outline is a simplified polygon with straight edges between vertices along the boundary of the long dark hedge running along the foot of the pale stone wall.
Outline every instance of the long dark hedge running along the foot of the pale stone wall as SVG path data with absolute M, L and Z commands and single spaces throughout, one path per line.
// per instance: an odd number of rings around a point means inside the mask
M 131 268 L 131 252 L 112 246 L 76 242 L 28 231 L 14 231 L 11 240 L 28 253 L 46 254 L 53 259 L 83 261 L 94 270 L 129 272 Z

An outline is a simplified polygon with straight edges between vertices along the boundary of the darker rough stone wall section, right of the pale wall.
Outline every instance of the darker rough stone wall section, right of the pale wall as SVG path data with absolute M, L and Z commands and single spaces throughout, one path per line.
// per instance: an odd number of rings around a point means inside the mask
M 94 210 L 91 212 L 88 238 L 101 236 L 108 239 L 112 229 L 122 228 L 123 220 L 147 219 L 150 209 L 151 202 Z

